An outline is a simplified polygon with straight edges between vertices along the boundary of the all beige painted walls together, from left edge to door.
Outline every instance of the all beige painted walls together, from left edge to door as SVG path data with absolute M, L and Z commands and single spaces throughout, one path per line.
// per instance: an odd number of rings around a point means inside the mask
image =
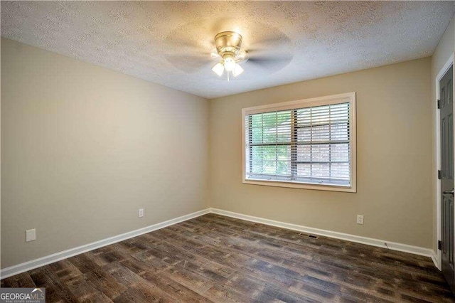
M 2 38 L 1 268 L 209 205 L 434 248 L 432 85 L 454 21 L 446 36 L 432 59 L 210 101 Z M 242 184 L 243 107 L 351 91 L 358 193 Z

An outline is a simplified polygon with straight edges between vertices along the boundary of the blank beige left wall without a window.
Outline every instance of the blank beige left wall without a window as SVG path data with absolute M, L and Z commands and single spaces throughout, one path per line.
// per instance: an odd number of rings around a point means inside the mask
M 201 97 L 2 38 L 1 107 L 2 268 L 208 207 Z

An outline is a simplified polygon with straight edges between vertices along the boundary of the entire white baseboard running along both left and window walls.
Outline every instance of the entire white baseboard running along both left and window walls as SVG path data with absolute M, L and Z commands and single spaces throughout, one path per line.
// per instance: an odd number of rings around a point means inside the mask
M 93 242 L 93 243 L 89 243 L 87 245 L 82 245 L 77 248 L 71 248 L 69 250 L 64 250 L 62 252 L 56 252 L 55 254 L 52 254 L 52 255 L 47 255 L 45 257 L 40 257 L 35 260 L 23 262 L 18 265 L 6 267 L 6 268 L 0 270 L 0 277 L 1 277 L 1 279 L 4 279 L 6 277 L 11 277 L 13 275 L 20 274 L 21 272 L 33 270 L 37 267 L 48 265 L 50 263 L 66 259 L 68 257 L 73 257 L 75 255 L 80 255 L 81 253 L 88 252 L 90 250 L 102 248 L 103 246 L 106 246 L 106 245 L 111 245 L 111 244 L 114 244 L 114 243 L 117 243 L 117 242 L 120 242 L 123 240 L 127 240 L 129 238 L 137 237 L 138 235 L 143 235 L 144 233 L 150 233 L 151 231 L 154 231 L 154 230 L 159 230 L 161 228 L 165 228 L 170 225 L 174 225 L 174 224 L 186 221 L 186 220 L 197 218 L 199 216 L 205 215 L 206 213 L 216 213 L 218 215 L 228 216 L 228 217 L 237 218 L 237 219 L 241 219 L 241 220 L 247 220 L 247 221 L 256 222 L 256 223 L 262 223 L 262 224 L 266 224 L 266 225 L 272 225 L 272 226 L 276 226 L 279 228 L 287 228 L 290 230 L 297 230 L 297 231 L 314 234 L 314 235 L 323 235 L 328 238 L 348 240 L 348 241 L 355 242 L 355 243 L 362 243 L 362 244 L 366 244 L 366 245 L 378 246 L 380 248 L 389 248 L 391 250 L 410 252 L 415 255 L 424 255 L 427 257 L 431 257 L 434 262 L 434 265 L 440 270 L 439 262 L 438 262 L 439 257 L 437 255 L 437 252 L 435 252 L 434 250 L 429 249 L 429 248 L 419 248 L 417 246 L 412 246 L 412 245 L 407 245 L 407 244 L 388 242 L 385 240 L 378 240 L 378 239 L 373 239 L 373 238 L 360 237 L 359 235 L 350 235 L 348 233 L 338 233 L 336 231 L 331 231 L 331 230 L 310 228 L 310 227 L 307 227 L 304 225 L 284 223 L 284 222 L 269 220 L 269 219 L 265 219 L 265 218 L 243 215 L 241 213 L 233 213 L 232 211 L 223 211 L 218 208 L 207 208 L 202 211 L 196 211 L 196 213 L 190 213 L 185 216 L 167 220 L 167 221 L 164 221 L 161 223 L 156 223 L 154 225 L 149 225 L 145 228 L 133 230 L 128 233 L 122 233 L 122 235 L 115 235 L 114 237 L 106 238 L 106 239 L 103 239 L 103 240 L 100 240 L 97 242 Z M 387 245 L 385 245 L 385 243 L 387 243 Z

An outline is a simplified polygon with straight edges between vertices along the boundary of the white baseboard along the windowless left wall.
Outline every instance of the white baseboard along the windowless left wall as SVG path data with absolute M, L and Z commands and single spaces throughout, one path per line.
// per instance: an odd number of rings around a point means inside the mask
M 145 228 L 139 228 L 137 230 L 129 231 L 128 233 L 122 233 L 122 235 L 114 235 L 114 237 L 106 238 L 97 242 L 89 243 L 86 245 L 79 246 L 77 248 L 71 248 L 69 250 L 64 250 L 62 252 L 56 252 L 52 255 L 46 255 L 45 257 L 40 257 L 35 260 L 31 260 L 28 262 L 23 262 L 18 265 L 13 265 L 11 267 L 6 267 L 0 270 L 0 277 L 4 279 L 6 277 L 11 277 L 13 275 L 20 274 L 21 272 L 26 272 L 28 270 L 33 270 L 37 267 L 41 267 L 44 265 L 48 265 L 53 262 L 57 262 L 68 257 L 73 257 L 75 255 L 80 255 L 83 252 L 87 252 L 90 250 L 95 250 L 97 248 L 102 248 L 103 246 L 114 244 L 123 240 L 127 240 L 129 238 L 137 237 L 138 235 L 143 235 L 144 233 L 150 233 L 154 230 L 159 230 L 161 228 L 165 228 L 170 225 L 174 225 L 176 223 L 181 223 L 186 220 L 190 220 L 199 216 L 203 216 L 206 213 L 209 213 L 210 210 L 204 209 L 202 211 L 196 211 L 196 213 L 189 213 L 188 215 L 181 216 L 178 218 L 174 218 L 171 220 L 167 220 L 161 223 L 156 223 L 154 225 L 149 225 Z

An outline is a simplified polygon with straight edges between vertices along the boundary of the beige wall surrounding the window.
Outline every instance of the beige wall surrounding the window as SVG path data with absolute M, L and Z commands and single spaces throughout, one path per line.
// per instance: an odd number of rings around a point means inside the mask
M 432 248 L 430 62 L 424 58 L 210 100 L 211 206 Z M 353 91 L 357 193 L 242 184 L 242 107 Z M 357 214 L 365 216 L 365 225 L 355 223 Z

